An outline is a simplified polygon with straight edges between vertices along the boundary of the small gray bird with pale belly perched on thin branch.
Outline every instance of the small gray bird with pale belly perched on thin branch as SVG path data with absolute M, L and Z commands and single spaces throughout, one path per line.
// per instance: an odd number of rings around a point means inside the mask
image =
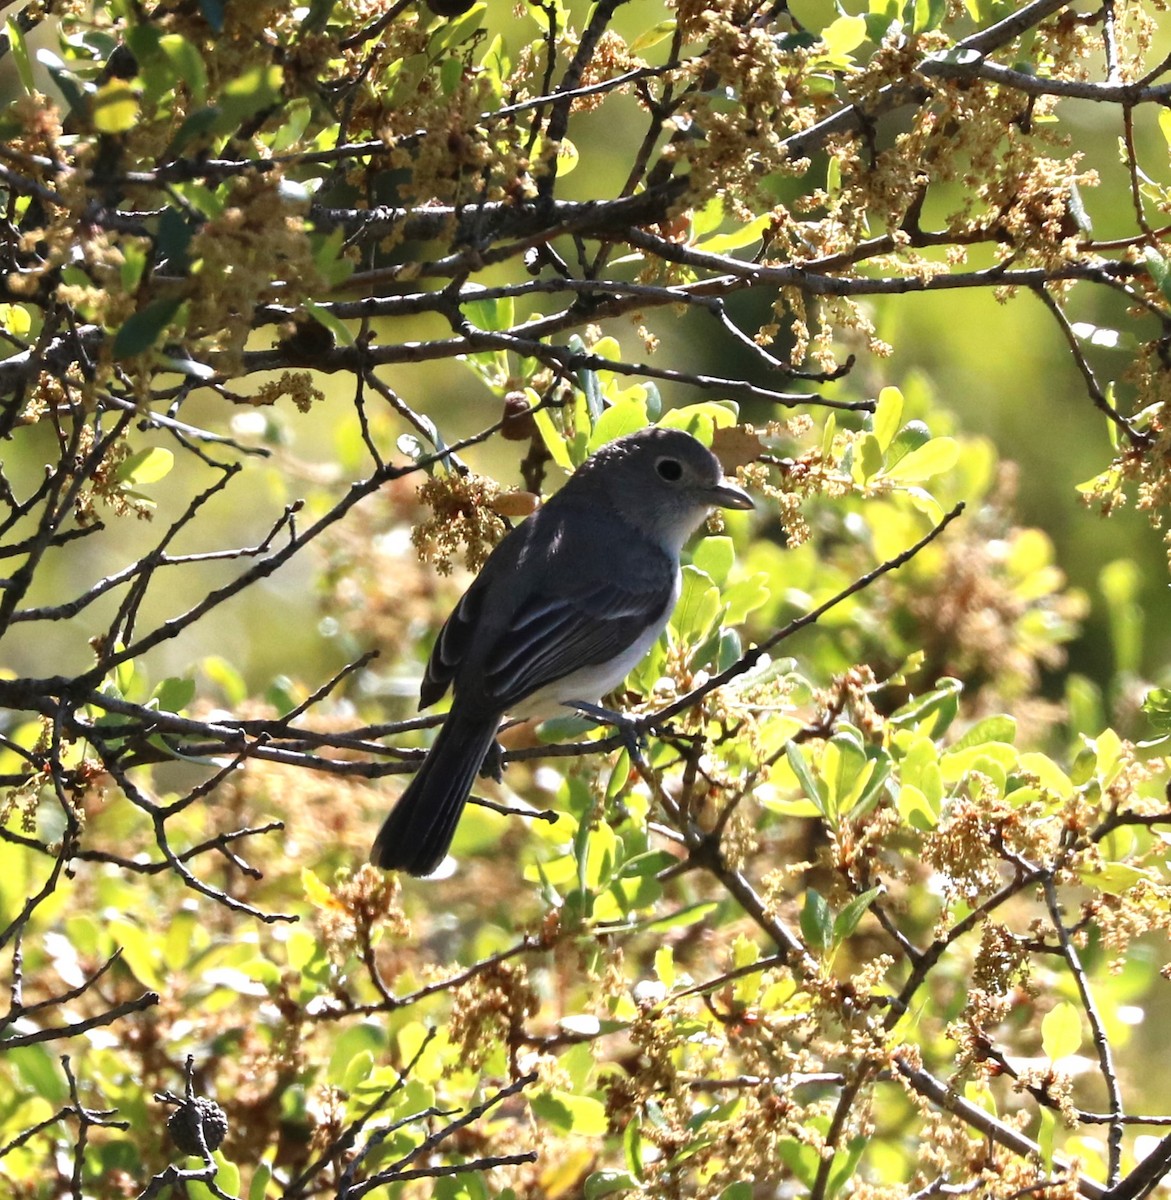
M 419 707 L 451 686 L 451 710 L 371 862 L 430 875 L 504 715 L 550 716 L 617 688 L 679 599 L 684 542 L 711 509 L 752 506 L 680 430 L 641 430 L 582 463 L 496 547 L 440 630 Z

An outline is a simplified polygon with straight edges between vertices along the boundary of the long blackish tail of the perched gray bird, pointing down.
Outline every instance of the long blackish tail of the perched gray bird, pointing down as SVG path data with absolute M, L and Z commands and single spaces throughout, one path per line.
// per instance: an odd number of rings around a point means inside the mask
M 370 860 L 384 870 L 430 875 L 444 859 L 476 773 L 496 739 L 493 715 L 448 714 L 434 745 L 383 822 Z

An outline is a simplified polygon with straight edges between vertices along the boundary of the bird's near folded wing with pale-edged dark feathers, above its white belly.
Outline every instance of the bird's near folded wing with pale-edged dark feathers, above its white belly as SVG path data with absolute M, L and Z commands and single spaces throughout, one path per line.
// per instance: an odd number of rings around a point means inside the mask
M 574 671 L 608 662 L 648 625 L 661 622 L 673 595 L 674 572 L 669 570 L 653 587 L 606 580 L 557 595 L 533 595 L 493 647 L 485 662 L 484 686 L 508 709 Z

